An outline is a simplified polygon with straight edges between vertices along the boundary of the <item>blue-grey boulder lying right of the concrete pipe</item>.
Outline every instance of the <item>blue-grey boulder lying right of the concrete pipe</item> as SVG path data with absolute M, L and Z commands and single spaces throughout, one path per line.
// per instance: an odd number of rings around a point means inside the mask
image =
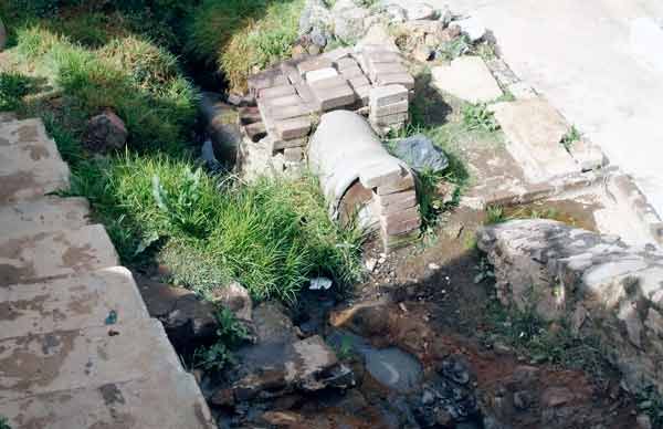
M 443 171 L 449 158 L 430 138 L 422 134 L 396 142 L 392 153 L 415 171 Z

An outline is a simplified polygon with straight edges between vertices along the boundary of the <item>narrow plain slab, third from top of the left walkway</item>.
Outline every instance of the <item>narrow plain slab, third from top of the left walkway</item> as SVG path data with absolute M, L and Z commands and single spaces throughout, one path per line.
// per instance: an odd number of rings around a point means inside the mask
M 0 208 L 4 238 L 76 229 L 87 224 L 90 205 L 84 198 L 43 197 Z

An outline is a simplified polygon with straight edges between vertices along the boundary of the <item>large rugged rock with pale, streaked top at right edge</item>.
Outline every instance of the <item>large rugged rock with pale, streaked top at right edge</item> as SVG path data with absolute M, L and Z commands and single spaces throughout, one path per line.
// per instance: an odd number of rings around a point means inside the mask
M 540 219 L 485 227 L 478 248 L 495 266 L 503 303 L 599 337 L 630 389 L 663 391 L 662 251 Z

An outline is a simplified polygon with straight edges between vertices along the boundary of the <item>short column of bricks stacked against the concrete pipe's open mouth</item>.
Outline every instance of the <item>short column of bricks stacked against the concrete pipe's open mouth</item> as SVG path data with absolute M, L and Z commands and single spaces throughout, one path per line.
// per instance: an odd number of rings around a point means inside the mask
M 381 158 L 359 174 L 359 181 L 372 189 L 372 211 L 380 220 L 385 249 L 417 240 L 421 214 L 412 172 L 396 158 Z

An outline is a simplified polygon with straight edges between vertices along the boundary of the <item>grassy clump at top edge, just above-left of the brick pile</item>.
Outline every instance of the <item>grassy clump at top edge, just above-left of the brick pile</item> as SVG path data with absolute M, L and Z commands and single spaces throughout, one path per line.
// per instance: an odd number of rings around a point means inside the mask
M 186 50 L 215 63 L 232 90 L 254 71 L 290 57 L 303 0 L 203 0 L 192 13 Z

